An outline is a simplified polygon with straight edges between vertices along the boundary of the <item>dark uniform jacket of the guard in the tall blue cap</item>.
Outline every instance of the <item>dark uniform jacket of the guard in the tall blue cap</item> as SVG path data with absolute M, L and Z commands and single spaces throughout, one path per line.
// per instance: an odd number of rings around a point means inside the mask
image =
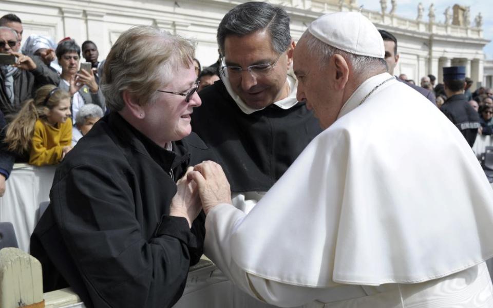
M 456 125 L 472 147 L 481 125 L 479 114 L 469 105 L 466 95 L 452 95 L 443 103 L 440 110 Z

